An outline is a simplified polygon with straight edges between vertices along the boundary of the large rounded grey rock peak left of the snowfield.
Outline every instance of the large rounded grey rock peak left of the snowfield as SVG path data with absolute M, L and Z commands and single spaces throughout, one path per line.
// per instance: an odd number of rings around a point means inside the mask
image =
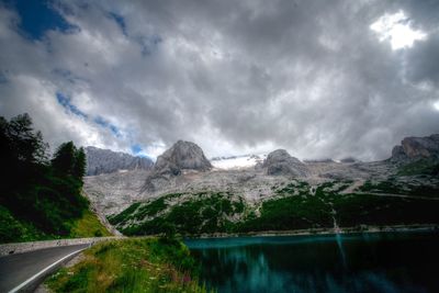
M 155 191 L 166 185 L 183 170 L 209 171 L 211 162 L 203 150 L 194 143 L 178 140 L 171 148 L 157 158 L 156 165 L 146 179 L 143 191 Z

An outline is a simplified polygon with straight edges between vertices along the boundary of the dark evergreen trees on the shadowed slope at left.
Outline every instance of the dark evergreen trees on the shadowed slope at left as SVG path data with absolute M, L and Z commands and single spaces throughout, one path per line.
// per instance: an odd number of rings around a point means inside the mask
M 23 233 L 40 238 L 68 235 L 72 221 L 89 207 L 81 195 L 87 167 L 83 148 L 67 142 L 50 157 L 30 115 L 21 114 L 10 121 L 0 117 L 0 240 L 16 239 Z M 11 227 L 16 223 L 31 228 Z

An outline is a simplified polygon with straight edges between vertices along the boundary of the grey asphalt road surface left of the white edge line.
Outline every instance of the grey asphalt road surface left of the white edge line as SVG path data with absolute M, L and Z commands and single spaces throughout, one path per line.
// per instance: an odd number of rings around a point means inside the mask
M 0 258 L 0 292 L 9 292 L 57 260 L 89 245 L 45 248 Z

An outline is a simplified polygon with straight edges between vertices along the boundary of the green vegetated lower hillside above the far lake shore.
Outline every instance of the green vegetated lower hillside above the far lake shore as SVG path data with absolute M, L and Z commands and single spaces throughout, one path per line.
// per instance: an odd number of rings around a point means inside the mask
M 389 181 L 367 181 L 358 191 L 342 193 L 350 183 L 331 181 L 312 189 L 307 182 L 292 180 L 273 188 L 273 198 L 251 203 L 230 192 L 166 194 L 135 203 L 109 219 L 126 235 L 169 230 L 200 235 L 322 229 L 334 228 L 335 222 L 337 226 L 349 228 L 439 224 L 439 196 L 435 187 L 420 190 L 393 182 L 394 193 L 409 194 L 393 196 L 383 193 L 390 189 Z

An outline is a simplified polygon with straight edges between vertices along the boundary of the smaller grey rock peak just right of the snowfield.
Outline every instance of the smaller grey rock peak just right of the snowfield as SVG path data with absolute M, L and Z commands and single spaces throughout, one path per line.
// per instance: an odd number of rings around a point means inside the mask
M 309 173 L 302 161 L 290 156 L 284 149 L 277 149 L 270 153 L 263 161 L 262 167 L 267 168 L 267 174 L 274 176 L 306 177 Z

